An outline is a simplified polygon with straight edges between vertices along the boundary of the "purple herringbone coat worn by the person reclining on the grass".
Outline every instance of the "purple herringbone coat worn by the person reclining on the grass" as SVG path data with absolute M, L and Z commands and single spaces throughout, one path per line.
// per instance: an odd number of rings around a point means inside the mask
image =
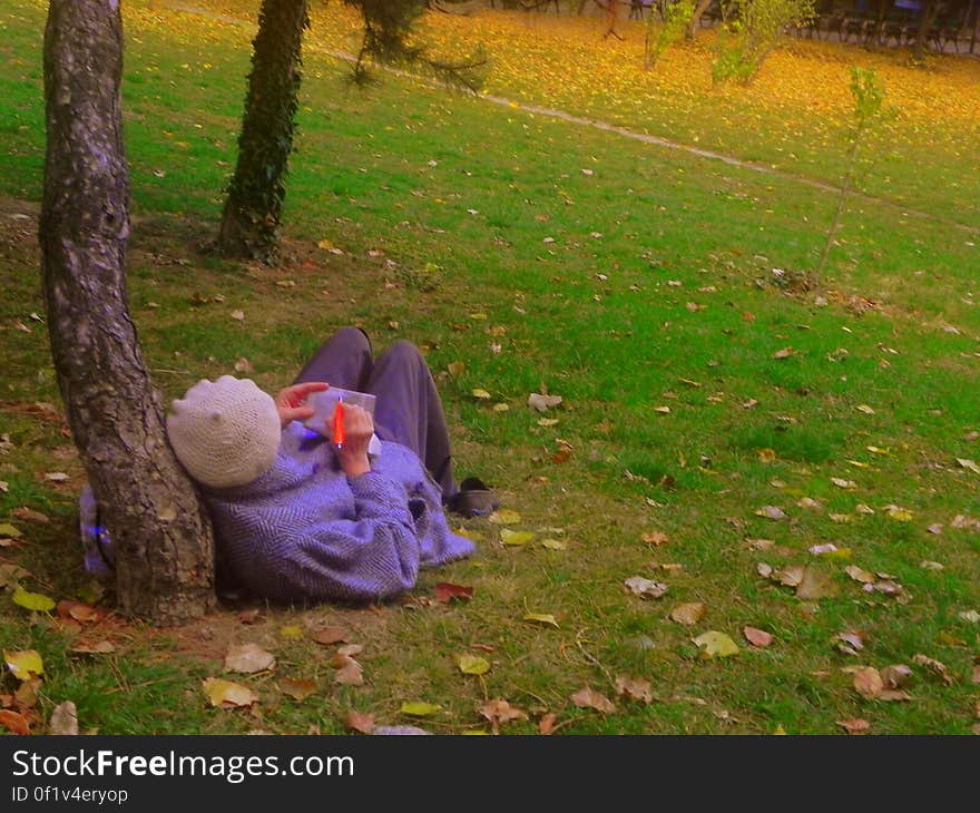
M 204 493 L 232 575 L 281 601 L 389 598 L 411 589 L 420 567 L 473 551 L 450 532 L 418 456 L 392 441 L 350 479 L 325 440 L 294 421 L 262 477 Z

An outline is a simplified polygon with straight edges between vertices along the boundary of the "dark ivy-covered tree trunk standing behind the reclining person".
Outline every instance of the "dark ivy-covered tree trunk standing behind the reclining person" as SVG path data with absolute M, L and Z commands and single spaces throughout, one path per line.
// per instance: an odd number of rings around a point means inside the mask
M 253 41 L 252 72 L 238 164 L 218 234 L 219 251 L 234 257 L 272 262 L 286 195 L 300 92 L 307 0 L 263 0 Z

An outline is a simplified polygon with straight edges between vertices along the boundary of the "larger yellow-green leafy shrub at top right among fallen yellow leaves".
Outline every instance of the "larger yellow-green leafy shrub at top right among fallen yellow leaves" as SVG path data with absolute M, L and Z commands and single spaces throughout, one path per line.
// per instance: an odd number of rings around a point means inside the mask
M 752 81 L 765 58 L 776 47 L 787 27 L 798 27 L 813 18 L 814 0 L 732 0 L 726 16 L 736 19 L 723 26 L 718 36 L 718 56 L 712 66 L 712 79 Z

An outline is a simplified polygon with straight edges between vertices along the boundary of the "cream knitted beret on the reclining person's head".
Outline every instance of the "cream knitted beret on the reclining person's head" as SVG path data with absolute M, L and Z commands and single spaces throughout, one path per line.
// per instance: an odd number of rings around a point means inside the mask
M 272 395 L 249 379 L 204 379 L 170 405 L 167 434 L 177 460 L 197 482 L 244 486 L 275 462 L 282 437 Z

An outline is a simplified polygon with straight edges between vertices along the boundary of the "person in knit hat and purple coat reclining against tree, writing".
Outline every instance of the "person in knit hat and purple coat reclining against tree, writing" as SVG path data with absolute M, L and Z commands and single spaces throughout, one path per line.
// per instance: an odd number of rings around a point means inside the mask
M 332 442 L 332 415 L 317 431 L 302 423 L 314 414 L 307 399 L 330 386 L 376 396 L 373 418 L 344 404 L 342 443 Z M 198 382 L 174 401 L 167 433 L 210 508 L 222 565 L 275 600 L 395 596 L 420 567 L 473 551 L 450 531 L 443 502 L 469 516 L 496 507 L 479 481 L 457 490 L 445 417 L 418 349 L 396 342 L 374 360 L 352 327 L 275 399 L 247 379 Z

